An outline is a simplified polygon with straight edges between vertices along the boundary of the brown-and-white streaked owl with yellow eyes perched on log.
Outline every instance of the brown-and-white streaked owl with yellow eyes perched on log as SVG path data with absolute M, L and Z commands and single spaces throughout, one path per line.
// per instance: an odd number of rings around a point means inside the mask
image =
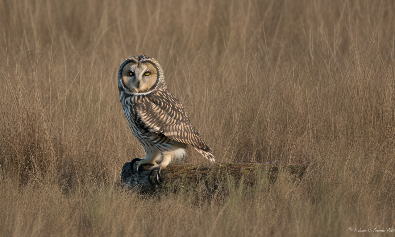
M 154 58 L 139 55 L 122 62 L 118 88 L 126 119 L 146 153 L 144 159 L 135 158 L 130 162 L 132 173 L 137 161 L 137 173 L 141 166 L 152 164 L 148 180 L 154 185 L 151 177 L 156 171 L 156 182 L 162 184 L 161 171 L 168 164 L 181 161 L 187 145 L 214 162 L 213 151 L 192 126 L 181 102 L 167 90 L 162 67 Z

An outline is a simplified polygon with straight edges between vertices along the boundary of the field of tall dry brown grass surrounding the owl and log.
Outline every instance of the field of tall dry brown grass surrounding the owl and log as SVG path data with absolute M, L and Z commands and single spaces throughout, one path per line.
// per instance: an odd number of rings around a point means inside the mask
M 395 228 L 395 2 L 0 0 L 0 30 L 0 235 Z M 117 88 L 132 55 L 162 65 L 217 162 L 304 164 L 303 179 L 122 188 L 144 156 Z

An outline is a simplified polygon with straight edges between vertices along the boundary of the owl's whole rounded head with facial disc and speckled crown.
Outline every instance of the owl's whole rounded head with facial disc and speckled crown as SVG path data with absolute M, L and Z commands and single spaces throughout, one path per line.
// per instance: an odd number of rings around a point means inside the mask
M 162 67 L 158 61 L 146 55 L 131 56 L 122 62 L 118 71 L 118 85 L 131 94 L 166 88 Z

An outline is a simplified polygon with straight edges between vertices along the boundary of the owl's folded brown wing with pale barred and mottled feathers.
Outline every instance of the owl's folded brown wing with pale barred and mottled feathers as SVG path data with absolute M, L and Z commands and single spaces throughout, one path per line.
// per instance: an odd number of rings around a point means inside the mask
M 132 100 L 137 124 L 153 134 L 192 145 L 201 150 L 211 150 L 186 115 L 181 102 L 167 89 L 136 95 Z

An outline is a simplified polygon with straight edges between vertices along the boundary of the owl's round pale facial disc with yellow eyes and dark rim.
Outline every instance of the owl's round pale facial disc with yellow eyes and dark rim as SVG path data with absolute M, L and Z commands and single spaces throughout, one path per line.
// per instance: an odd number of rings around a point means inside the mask
M 148 92 L 157 79 L 158 71 L 150 62 L 130 62 L 122 70 L 122 83 L 132 92 Z

